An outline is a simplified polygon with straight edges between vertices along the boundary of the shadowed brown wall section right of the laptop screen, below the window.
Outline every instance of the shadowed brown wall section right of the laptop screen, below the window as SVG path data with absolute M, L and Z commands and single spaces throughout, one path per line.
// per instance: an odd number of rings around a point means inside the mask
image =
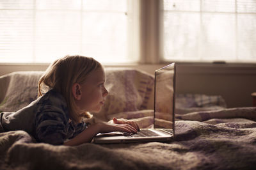
M 177 67 L 177 92 L 221 95 L 228 107 L 252 106 L 256 91 L 256 66 L 181 65 Z

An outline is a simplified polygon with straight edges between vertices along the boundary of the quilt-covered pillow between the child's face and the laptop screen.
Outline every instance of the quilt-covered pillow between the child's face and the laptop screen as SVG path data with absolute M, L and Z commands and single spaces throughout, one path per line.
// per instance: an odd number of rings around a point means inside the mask
M 92 113 L 102 121 L 111 114 L 140 111 L 154 107 L 154 77 L 141 70 L 106 68 L 106 102 L 100 112 Z

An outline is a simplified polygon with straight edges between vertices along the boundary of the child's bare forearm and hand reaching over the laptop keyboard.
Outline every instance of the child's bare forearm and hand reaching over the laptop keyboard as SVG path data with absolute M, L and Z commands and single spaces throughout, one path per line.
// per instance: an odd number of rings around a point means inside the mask
M 136 133 L 136 128 L 132 127 L 129 124 L 112 124 L 112 123 L 95 123 L 90 125 L 90 127 L 86 128 L 80 134 L 76 135 L 73 139 L 65 142 L 64 145 L 67 146 L 76 146 L 83 143 L 90 143 L 93 137 L 99 133 L 107 133 L 107 132 L 129 132 Z

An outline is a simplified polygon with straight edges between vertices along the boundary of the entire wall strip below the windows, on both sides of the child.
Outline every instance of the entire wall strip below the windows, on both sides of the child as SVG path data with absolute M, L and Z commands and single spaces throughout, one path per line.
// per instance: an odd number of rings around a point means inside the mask
M 48 65 L 0 65 L 0 75 L 13 71 L 45 70 Z M 108 65 L 138 68 L 154 74 L 163 65 Z M 256 66 L 234 64 L 177 63 L 177 93 L 221 95 L 228 107 L 252 106 L 256 91 Z

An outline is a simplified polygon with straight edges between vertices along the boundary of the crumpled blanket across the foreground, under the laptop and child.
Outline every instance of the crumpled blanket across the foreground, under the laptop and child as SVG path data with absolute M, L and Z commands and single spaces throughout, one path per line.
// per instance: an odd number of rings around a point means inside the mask
M 244 118 L 236 117 L 242 115 L 240 111 Z M 34 143 L 23 131 L 4 132 L 0 134 L 0 169 L 254 169 L 256 108 L 206 113 L 211 116 L 194 112 L 187 120 L 176 121 L 175 140 L 168 143 L 52 146 Z M 223 121 L 189 120 L 194 117 Z M 235 120 L 225 121 L 231 117 Z

